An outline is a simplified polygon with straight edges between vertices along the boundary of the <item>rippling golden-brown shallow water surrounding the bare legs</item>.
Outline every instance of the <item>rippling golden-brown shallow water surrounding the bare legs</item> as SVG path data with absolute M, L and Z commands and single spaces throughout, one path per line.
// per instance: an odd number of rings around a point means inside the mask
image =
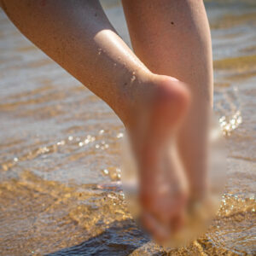
M 129 43 L 120 4 L 103 2 Z M 207 1 L 215 113 L 228 145 L 222 207 L 172 255 L 256 254 L 256 4 Z M 133 223 L 120 178 L 123 126 L 0 13 L 0 254 L 166 255 Z

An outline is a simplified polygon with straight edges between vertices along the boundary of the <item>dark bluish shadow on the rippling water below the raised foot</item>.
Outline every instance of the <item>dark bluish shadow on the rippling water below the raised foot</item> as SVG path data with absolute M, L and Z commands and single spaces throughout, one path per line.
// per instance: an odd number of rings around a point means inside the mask
M 131 219 L 115 221 L 111 226 L 100 235 L 91 237 L 87 241 L 73 247 L 63 248 L 47 256 L 62 255 L 118 255 L 126 256 L 143 247 L 150 241 L 149 237 L 137 228 Z M 163 255 L 162 253 L 156 253 Z

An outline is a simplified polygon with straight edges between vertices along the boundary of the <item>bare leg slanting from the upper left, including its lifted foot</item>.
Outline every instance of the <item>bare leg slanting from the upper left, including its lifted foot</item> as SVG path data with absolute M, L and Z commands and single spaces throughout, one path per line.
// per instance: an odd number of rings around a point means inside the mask
M 173 224 L 182 216 L 187 196 L 173 143 L 188 107 L 185 86 L 151 73 L 119 38 L 96 0 L 2 3 L 20 32 L 118 114 L 139 166 L 144 212 Z M 166 170 L 167 189 L 160 191 L 155 177 Z M 169 189 L 174 185 L 175 193 Z M 151 232 L 160 234 L 155 227 Z

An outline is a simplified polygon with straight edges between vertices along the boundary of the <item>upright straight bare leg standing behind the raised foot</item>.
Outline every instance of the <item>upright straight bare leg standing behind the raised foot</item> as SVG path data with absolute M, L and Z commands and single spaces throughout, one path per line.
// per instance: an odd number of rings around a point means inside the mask
M 137 56 L 152 72 L 189 84 L 191 108 L 178 147 L 193 196 L 204 195 L 212 108 L 212 48 L 203 1 L 123 0 L 123 5 Z

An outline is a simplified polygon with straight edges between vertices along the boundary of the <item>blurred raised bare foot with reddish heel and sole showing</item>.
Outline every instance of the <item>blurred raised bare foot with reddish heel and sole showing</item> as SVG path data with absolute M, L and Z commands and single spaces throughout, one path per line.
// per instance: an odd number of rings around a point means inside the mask
M 140 86 L 141 84 L 138 84 Z M 139 170 L 142 222 L 156 241 L 183 224 L 188 183 L 176 147 L 176 133 L 189 105 L 182 82 L 154 75 L 147 100 L 127 127 Z M 146 95 L 146 93 L 145 93 Z

